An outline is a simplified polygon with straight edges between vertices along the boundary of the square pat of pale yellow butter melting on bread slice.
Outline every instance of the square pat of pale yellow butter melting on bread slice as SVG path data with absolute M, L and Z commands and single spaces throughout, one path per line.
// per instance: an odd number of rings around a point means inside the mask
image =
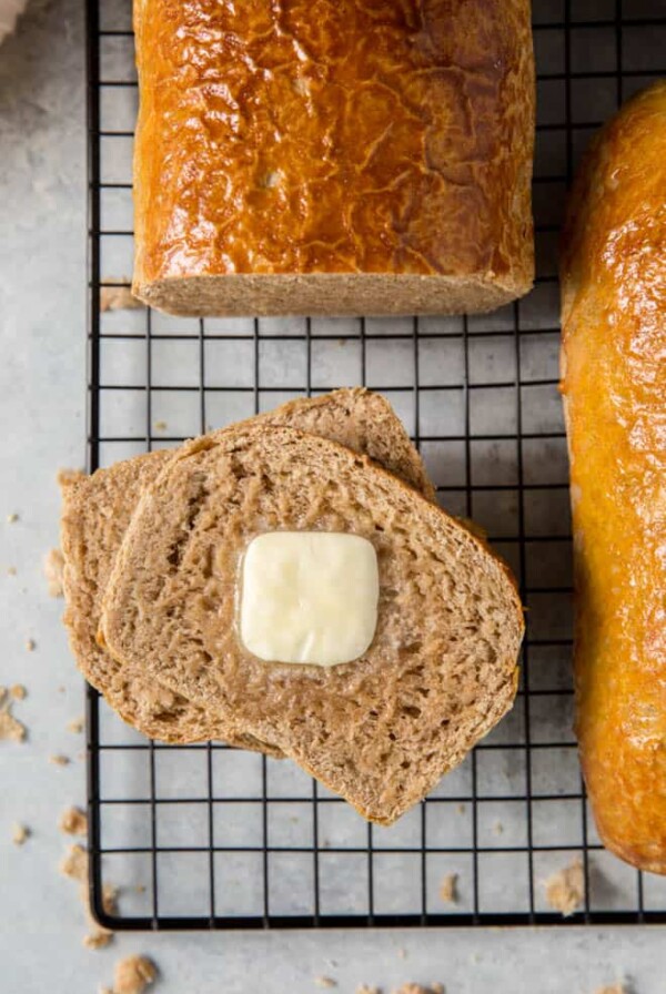
M 240 631 L 266 662 L 336 666 L 363 656 L 377 625 L 374 547 L 359 535 L 271 531 L 242 565 Z

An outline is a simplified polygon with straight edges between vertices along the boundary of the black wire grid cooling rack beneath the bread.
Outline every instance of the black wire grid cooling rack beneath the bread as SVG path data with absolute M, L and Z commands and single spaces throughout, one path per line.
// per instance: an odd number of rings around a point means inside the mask
M 89 466 L 366 384 L 391 399 L 438 499 L 473 517 L 527 605 L 512 713 L 418 808 L 367 825 L 293 764 L 148 742 L 89 691 L 92 905 L 120 929 L 666 921 L 666 881 L 599 845 L 572 737 L 567 460 L 557 230 L 582 149 L 666 70 L 664 0 L 535 0 L 537 280 L 475 317 L 206 320 L 100 311 L 132 267 L 137 109 L 129 0 L 89 0 Z M 543 881 L 581 859 L 579 912 Z M 456 903 L 441 884 L 457 875 Z M 120 912 L 102 885 L 122 889 Z

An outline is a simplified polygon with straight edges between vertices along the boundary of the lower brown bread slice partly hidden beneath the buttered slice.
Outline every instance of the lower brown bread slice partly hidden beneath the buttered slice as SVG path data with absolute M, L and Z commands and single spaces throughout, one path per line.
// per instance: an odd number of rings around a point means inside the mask
M 428 498 L 434 497 L 418 453 L 389 402 L 379 394 L 362 388 L 334 390 L 289 402 L 254 420 L 294 425 L 367 453 Z M 150 738 L 167 742 L 222 738 L 231 744 L 258 748 L 246 736 L 236 740 L 209 708 L 169 690 L 160 680 L 147 680 L 131 667 L 121 670 L 95 640 L 101 597 L 139 497 L 172 457 L 173 450 L 160 450 L 117 463 L 92 476 L 62 478 L 64 621 L 72 651 L 85 679 L 125 721 Z M 264 751 L 275 751 L 264 747 Z

